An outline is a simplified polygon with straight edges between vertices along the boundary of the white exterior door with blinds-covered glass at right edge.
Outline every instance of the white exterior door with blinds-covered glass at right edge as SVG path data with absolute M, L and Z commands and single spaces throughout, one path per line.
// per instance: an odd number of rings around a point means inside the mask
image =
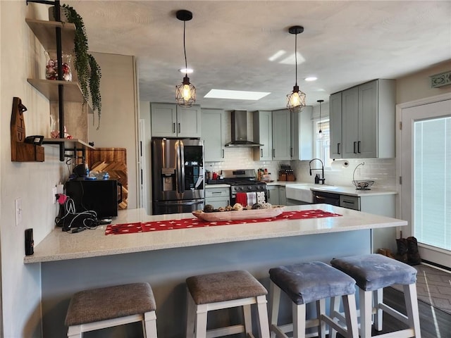
M 422 259 L 451 267 L 451 95 L 398 107 L 400 217 Z

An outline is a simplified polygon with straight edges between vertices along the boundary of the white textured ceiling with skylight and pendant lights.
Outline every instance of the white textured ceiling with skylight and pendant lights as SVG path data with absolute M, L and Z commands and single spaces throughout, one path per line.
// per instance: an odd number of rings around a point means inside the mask
M 376 78 L 395 79 L 451 59 L 451 1 L 64 1 L 85 21 L 89 49 L 137 57 L 140 100 L 174 102 L 185 66 L 197 104 L 208 108 L 283 108 L 295 84 L 307 104 Z M 268 58 L 283 50 L 276 61 Z M 292 62 L 282 63 L 284 58 Z M 305 82 L 314 75 L 316 82 Z M 210 89 L 271 92 L 259 101 L 204 99 Z

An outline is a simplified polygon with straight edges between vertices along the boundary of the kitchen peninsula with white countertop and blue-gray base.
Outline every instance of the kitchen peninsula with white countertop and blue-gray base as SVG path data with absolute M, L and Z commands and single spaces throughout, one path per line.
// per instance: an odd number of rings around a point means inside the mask
M 104 226 L 75 234 L 57 228 L 35 247 L 34 255 L 24 258 L 27 265 L 42 264 L 44 337 L 66 333 L 64 316 L 75 292 L 144 281 L 154 289 L 159 335 L 183 337 L 186 277 L 246 269 L 268 287 L 268 269 L 273 266 L 369 253 L 373 229 L 407 225 L 404 220 L 326 204 L 285 208 L 312 209 L 340 216 L 110 235 L 104 234 Z M 114 223 L 180 218 L 192 215 L 149 216 L 132 209 L 121 211 Z

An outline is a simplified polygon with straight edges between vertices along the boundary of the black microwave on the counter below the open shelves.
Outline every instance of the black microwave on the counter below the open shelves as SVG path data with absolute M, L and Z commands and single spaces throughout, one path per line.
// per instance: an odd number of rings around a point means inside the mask
M 117 180 L 86 180 L 78 178 L 66 182 L 66 195 L 73 199 L 75 211 L 95 211 L 97 218 L 118 215 L 118 204 L 122 202 L 122 184 Z

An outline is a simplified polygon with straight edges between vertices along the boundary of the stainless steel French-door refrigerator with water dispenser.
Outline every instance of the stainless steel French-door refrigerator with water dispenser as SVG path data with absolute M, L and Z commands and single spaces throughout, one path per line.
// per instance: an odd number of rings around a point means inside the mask
M 153 138 L 152 213 L 189 213 L 204 203 L 204 142 Z

